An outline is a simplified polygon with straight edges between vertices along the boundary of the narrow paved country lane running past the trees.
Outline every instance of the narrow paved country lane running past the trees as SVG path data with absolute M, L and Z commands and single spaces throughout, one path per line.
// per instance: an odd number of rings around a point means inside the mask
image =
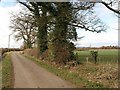
M 73 85 L 27 60 L 18 52 L 12 53 L 14 88 L 72 88 Z

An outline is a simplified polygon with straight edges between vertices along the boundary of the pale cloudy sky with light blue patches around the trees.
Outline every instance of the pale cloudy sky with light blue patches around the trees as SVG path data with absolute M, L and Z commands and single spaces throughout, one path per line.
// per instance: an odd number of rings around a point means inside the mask
M 0 48 L 8 47 L 8 36 L 11 34 L 9 29 L 10 25 L 10 12 L 18 12 L 20 10 L 20 5 L 13 2 L 8 2 L 10 0 L 3 0 L 0 3 Z M 85 36 L 80 41 L 76 42 L 76 45 L 81 47 L 99 47 L 107 45 L 118 45 L 118 18 L 113 12 L 108 10 L 102 4 L 97 4 L 95 6 L 95 11 L 97 16 L 104 22 L 108 29 L 106 32 L 93 33 L 84 30 L 77 30 L 78 36 Z M 11 36 L 10 47 L 20 47 L 22 41 L 16 42 L 14 37 Z

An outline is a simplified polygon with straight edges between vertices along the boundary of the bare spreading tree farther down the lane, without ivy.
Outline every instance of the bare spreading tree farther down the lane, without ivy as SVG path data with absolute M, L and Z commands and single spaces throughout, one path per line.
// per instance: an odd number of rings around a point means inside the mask
M 24 40 L 24 46 L 31 48 L 36 40 L 36 23 L 30 12 L 21 11 L 11 15 L 11 30 L 15 34 L 16 41 Z

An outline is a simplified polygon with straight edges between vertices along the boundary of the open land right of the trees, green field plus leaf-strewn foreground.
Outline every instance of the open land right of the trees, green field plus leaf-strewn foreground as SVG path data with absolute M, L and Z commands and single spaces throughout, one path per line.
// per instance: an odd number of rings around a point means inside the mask
M 93 49 L 75 52 L 82 65 L 75 67 L 73 71 L 79 73 L 81 77 L 101 83 L 105 87 L 118 87 L 118 50 L 98 49 L 96 65 L 90 51 Z

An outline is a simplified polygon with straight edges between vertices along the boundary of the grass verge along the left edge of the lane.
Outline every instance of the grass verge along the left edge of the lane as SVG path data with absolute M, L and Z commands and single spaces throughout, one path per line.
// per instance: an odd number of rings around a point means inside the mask
M 13 87 L 13 66 L 10 54 L 7 54 L 2 61 L 2 88 Z

